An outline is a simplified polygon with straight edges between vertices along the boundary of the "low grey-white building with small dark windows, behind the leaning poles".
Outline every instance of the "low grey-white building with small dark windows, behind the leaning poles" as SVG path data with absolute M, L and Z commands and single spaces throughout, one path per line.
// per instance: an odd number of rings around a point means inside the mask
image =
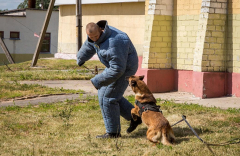
M 15 62 L 32 60 L 47 10 L 34 8 L 0 12 L 0 36 Z M 59 12 L 53 11 L 42 45 L 41 57 L 53 57 L 58 47 Z M 0 47 L 0 64 L 7 61 Z

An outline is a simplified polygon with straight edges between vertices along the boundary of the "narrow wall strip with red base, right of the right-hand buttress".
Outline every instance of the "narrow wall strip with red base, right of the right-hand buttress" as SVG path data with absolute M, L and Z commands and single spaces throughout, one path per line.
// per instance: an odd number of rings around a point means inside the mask
M 228 94 L 240 97 L 240 0 L 228 1 Z

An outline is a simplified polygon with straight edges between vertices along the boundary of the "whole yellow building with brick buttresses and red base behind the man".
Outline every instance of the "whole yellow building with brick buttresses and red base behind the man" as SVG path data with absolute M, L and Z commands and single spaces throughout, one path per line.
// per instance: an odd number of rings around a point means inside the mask
M 137 75 L 145 75 L 152 92 L 240 97 L 240 0 L 82 2 L 83 32 L 88 22 L 106 19 L 129 34 L 140 60 Z M 74 56 L 75 0 L 56 3 L 59 52 Z

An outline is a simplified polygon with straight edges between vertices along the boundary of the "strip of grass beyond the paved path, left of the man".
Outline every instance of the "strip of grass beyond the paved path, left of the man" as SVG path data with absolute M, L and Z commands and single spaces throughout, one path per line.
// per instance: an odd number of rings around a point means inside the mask
M 100 61 L 87 61 L 84 64 L 91 71 L 95 66 L 104 68 Z M 76 60 L 40 59 L 38 67 L 31 68 L 31 61 L 0 66 L 0 80 L 89 80 L 94 74 L 84 67 L 79 67 Z

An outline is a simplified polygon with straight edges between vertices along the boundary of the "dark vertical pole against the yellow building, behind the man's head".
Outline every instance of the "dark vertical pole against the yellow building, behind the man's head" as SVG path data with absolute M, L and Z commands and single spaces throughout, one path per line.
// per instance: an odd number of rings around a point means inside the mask
M 82 46 L 82 0 L 76 0 L 77 52 Z

